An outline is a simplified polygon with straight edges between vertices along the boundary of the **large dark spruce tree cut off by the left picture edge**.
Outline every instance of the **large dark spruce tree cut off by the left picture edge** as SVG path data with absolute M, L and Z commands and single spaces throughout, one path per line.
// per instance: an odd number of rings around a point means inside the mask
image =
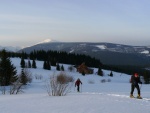
M 8 86 L 18 79 L 16 76 L 17 70 L 5 50 L 1 51 L 0 59 L 0 85 Z

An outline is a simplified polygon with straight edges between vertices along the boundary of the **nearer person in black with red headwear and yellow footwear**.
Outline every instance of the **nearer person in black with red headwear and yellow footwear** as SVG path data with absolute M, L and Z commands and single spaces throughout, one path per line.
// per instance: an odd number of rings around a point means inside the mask
M 138 75 L 138 73 L 135 73 L 134 75 L 131 76 L 131 93 L 130 93 L 130 98 L 134 98 L 133 96 L 133 92 L 134 92 L 134 89 L 136 88 L 137 91 L 138 91 L 138 96 L 137 98 L 139 99 L 142 99 L 141 95 L 140 95 L 140 88 L 139 88 L 139 84 L 142 84 L 141 80 L 140 80 L 140 77 Z

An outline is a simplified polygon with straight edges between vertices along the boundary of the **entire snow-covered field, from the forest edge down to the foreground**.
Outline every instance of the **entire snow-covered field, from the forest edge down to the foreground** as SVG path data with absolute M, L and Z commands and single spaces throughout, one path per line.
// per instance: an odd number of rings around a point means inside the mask
M 20 73 L 20 59 L 13 58 L 12 63 Z M 114 77 L 108 77 L 110 71 L 104 70 L 104 77 L 93 75 L 82 76 L 77 72 L 66 73 L 82 81 L 81 92 L 76 92 L 73 86 L 66 96 L 48 96 L 45 83 L 50 75 L 59 73 L 55 67 L 43 70 L 43 62 L 36 61 L 37 69 L 31 69 L 33 81 L 18 95 L 0 94 L 0 113 L 150 113 L 150 85 L 143 84 L 141 95 L 143 99 L 131 99 L 130 75 L 113 72 Z M 64 65 L 67 70 L 68 65 Z M 97 69 L 95 69 L 95 72 Z M 35 79 L 40 75 L 42 79 Z M 102 83 L 101 80 L 110 82 Z M 135 89 L 134 95 L 137 95 Z

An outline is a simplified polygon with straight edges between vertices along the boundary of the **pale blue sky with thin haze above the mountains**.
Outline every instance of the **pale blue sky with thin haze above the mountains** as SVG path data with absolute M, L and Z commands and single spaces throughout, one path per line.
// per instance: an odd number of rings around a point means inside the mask
M 150 0 L 0 0 L 0 46 L 48 38 L 150 45 Z

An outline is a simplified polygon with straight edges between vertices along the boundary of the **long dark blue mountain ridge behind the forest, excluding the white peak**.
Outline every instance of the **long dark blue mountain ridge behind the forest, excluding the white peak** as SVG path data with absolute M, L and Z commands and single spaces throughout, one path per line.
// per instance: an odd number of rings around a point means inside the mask
M 86 54 L 109 65 L 150 65 L 149 46 L 130 46 L 114 43 L 89 42 L 46 42 L 21 49 L 30 53 L 34 50 L 54 50 Z

